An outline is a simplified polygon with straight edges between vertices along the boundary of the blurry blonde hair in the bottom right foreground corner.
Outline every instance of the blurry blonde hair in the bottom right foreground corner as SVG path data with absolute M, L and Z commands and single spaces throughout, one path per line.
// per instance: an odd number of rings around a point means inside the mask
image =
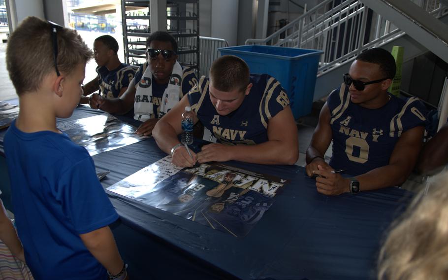
M 380 252 L 378 279 L 448 279 L 448 172 L 436 177 L 393 223 Z

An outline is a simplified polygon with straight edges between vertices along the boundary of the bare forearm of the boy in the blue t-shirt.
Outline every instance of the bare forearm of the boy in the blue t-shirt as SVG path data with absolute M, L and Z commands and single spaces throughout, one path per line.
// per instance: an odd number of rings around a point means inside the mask
M 117 275 L 123 269 L 124 262 L 108 226 L 79 236 L 87 249 L 110 274 Z

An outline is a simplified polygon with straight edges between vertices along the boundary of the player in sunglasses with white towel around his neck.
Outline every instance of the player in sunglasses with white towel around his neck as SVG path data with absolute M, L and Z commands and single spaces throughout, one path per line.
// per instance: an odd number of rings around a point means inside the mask
M 134 108 L 134 119 L 143 123 L 135 131 L 150 135 L 157 121 L 196 84 L 194 72 L 177 62 L 177 42 L 167 32 L 155 32 L 146 39 L 147 62 L 119 98 L 92 95 L 90 105 L 109 113 L 126 114 Z

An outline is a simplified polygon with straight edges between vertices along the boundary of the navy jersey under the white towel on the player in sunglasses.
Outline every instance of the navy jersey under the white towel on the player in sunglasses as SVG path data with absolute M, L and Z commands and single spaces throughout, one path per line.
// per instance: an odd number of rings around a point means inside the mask
M 151 102 L 153 104 L 153 108 L 154 108 L 154 110 L 153 110 L 154 114 L 151 115 L 151 118 L 158 118 L 158 116 L 160 114 L 160 104 L 162 102 L 163 92 L 165 91 L 168 84 L 160 85 L 160 84 L 156 83 L 154 76 L 151 80 L 150 79 L 142 79 L 143 73 L 145 72 L 145 70 L 148 66 L 149 66 L 149 63 L 146 62 L 138 68 L 137 72 L 135 73 L 134 81 L 135 81 L 135 88 L 137 88 L 137 86 L 139 84 L 140 84 L 140 87 L 142 87 L 142 88 L 149 88 L 150 85 L 152 84 L 152 90 L 153 90 L 152 96 L 151 97 L 147 96 L 146 99 L 145 99 L 145 96 L 143 96 L 140 101 L 136 100 L 135 102 Z M 196 77 L 196 74 L 193 72 L 193 70 L 188 67 L 184 68 L 182 80 L 180 81 L 180 85 L 181 85 L 181 89 L 182 89 L 182 92 L 180 93 L 180 99 L 182 99 L 182 97 L 185 94 L 187 94 L 196 83 L 197 83 L 197 77 Z M 151 100 L 149 100 L 149 99 L 151 99 Z

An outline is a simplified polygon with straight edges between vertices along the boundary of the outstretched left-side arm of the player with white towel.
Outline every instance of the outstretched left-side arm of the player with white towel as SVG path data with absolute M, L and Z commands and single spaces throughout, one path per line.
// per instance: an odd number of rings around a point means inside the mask
M 89 99 L 89 104 L 94 109 L 101 109 L 119 115 L 126 114 L 134 105 L 136 91 L 134 78 L 119 98 L 102 98 L 97 94 L 93 94 Z

